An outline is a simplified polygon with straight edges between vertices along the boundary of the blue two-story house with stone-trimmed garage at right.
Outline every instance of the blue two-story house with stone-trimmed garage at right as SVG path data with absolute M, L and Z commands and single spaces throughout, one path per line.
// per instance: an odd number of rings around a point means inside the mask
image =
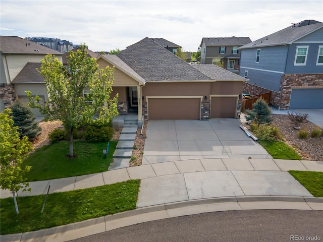
M 239 49 L 245 93 L 270 90 L 279 109 L 323 108 L 323 23 L 304 20 Z

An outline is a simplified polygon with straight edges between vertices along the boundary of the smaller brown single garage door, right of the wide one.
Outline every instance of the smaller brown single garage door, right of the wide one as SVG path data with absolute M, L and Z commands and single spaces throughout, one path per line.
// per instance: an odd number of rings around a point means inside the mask
M 211 118 L 236 117 L 237 97 L 211 97 Z

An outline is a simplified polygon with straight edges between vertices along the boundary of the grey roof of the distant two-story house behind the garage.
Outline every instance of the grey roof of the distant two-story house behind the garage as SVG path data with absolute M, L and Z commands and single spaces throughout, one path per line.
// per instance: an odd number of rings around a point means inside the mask
M 216 37 L 216 38 L 202 38 L 200 46 L 202 43 L 206 46 L 241 46 L 251 42 L 249 37 Z

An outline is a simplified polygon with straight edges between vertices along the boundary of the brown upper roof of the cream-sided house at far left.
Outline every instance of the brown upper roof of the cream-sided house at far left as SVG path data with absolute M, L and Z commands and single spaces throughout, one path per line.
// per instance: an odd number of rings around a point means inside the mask
M 11 54 L 56 54 L 63 53 L 18 36 L 0 36 L 0 51 Z

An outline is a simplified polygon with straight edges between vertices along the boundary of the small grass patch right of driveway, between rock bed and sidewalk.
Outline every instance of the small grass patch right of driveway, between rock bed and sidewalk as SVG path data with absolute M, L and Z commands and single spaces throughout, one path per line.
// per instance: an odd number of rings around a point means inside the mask
M 281 141 L 265 141 L 258 140 L 258 143 L 274 158 L 274 159 L 288 159 L 301 160 L 295 150 Z

